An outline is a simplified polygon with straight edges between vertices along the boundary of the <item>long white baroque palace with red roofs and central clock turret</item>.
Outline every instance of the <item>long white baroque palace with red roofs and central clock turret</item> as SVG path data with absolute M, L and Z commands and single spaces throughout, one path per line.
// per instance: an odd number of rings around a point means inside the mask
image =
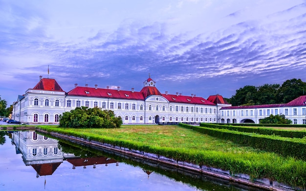
M 287 104 L 231 106 L 221 95 L 207 99 L 179 93 L 160 93 L 149 78 L 137 92 L 78 86 L 65 92 L 55 79 L 42 78 L 34 88 L 19 95 L 13 104 L 12 119 L 24 124 L 58 124 L 59 116 L 76 107 L 100 107 L 113 110 L 123 124 L 175 123 L 259 123 L 270 114 L 284 114 L 294 124 L 306 124 L 306 96 Z

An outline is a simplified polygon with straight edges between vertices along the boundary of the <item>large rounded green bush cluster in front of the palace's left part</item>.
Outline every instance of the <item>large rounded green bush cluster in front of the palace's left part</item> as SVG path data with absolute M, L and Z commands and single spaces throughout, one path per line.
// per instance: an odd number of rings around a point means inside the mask
M 116 117 L 112 110 L 98 107 L 77 107 L 60 115 L 60 127 L 73 128 L 119 128 L 121 117 Z

